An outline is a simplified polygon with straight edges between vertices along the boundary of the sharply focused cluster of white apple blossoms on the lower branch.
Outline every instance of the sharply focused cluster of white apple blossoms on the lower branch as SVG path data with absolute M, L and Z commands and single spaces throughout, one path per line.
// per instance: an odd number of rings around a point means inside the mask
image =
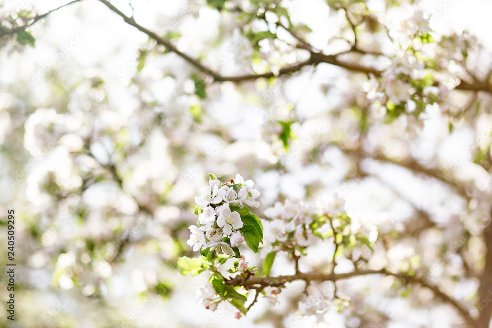
M 195 203 L 200 207 L 198 224 L 189 226 L 191 235 L 187 244 L 198 251 L 208 247 L 219 248 L 223 253 L 234 256 L 231 247 L 237 247 L 245 241 L 238 231 L 243 227 L 241 215 L 233 208 L 258 208 L 260 203 L 256 198 L 260 192 L 253 189 L 252 180 L 244 180 L 241 175 L 235 179 L 220 184 L 218 179 L 210 179 L 209 185 L 200 188 L 201 195 L 195 197 Z M 227 237 L 230 243 L 222 241 Z

